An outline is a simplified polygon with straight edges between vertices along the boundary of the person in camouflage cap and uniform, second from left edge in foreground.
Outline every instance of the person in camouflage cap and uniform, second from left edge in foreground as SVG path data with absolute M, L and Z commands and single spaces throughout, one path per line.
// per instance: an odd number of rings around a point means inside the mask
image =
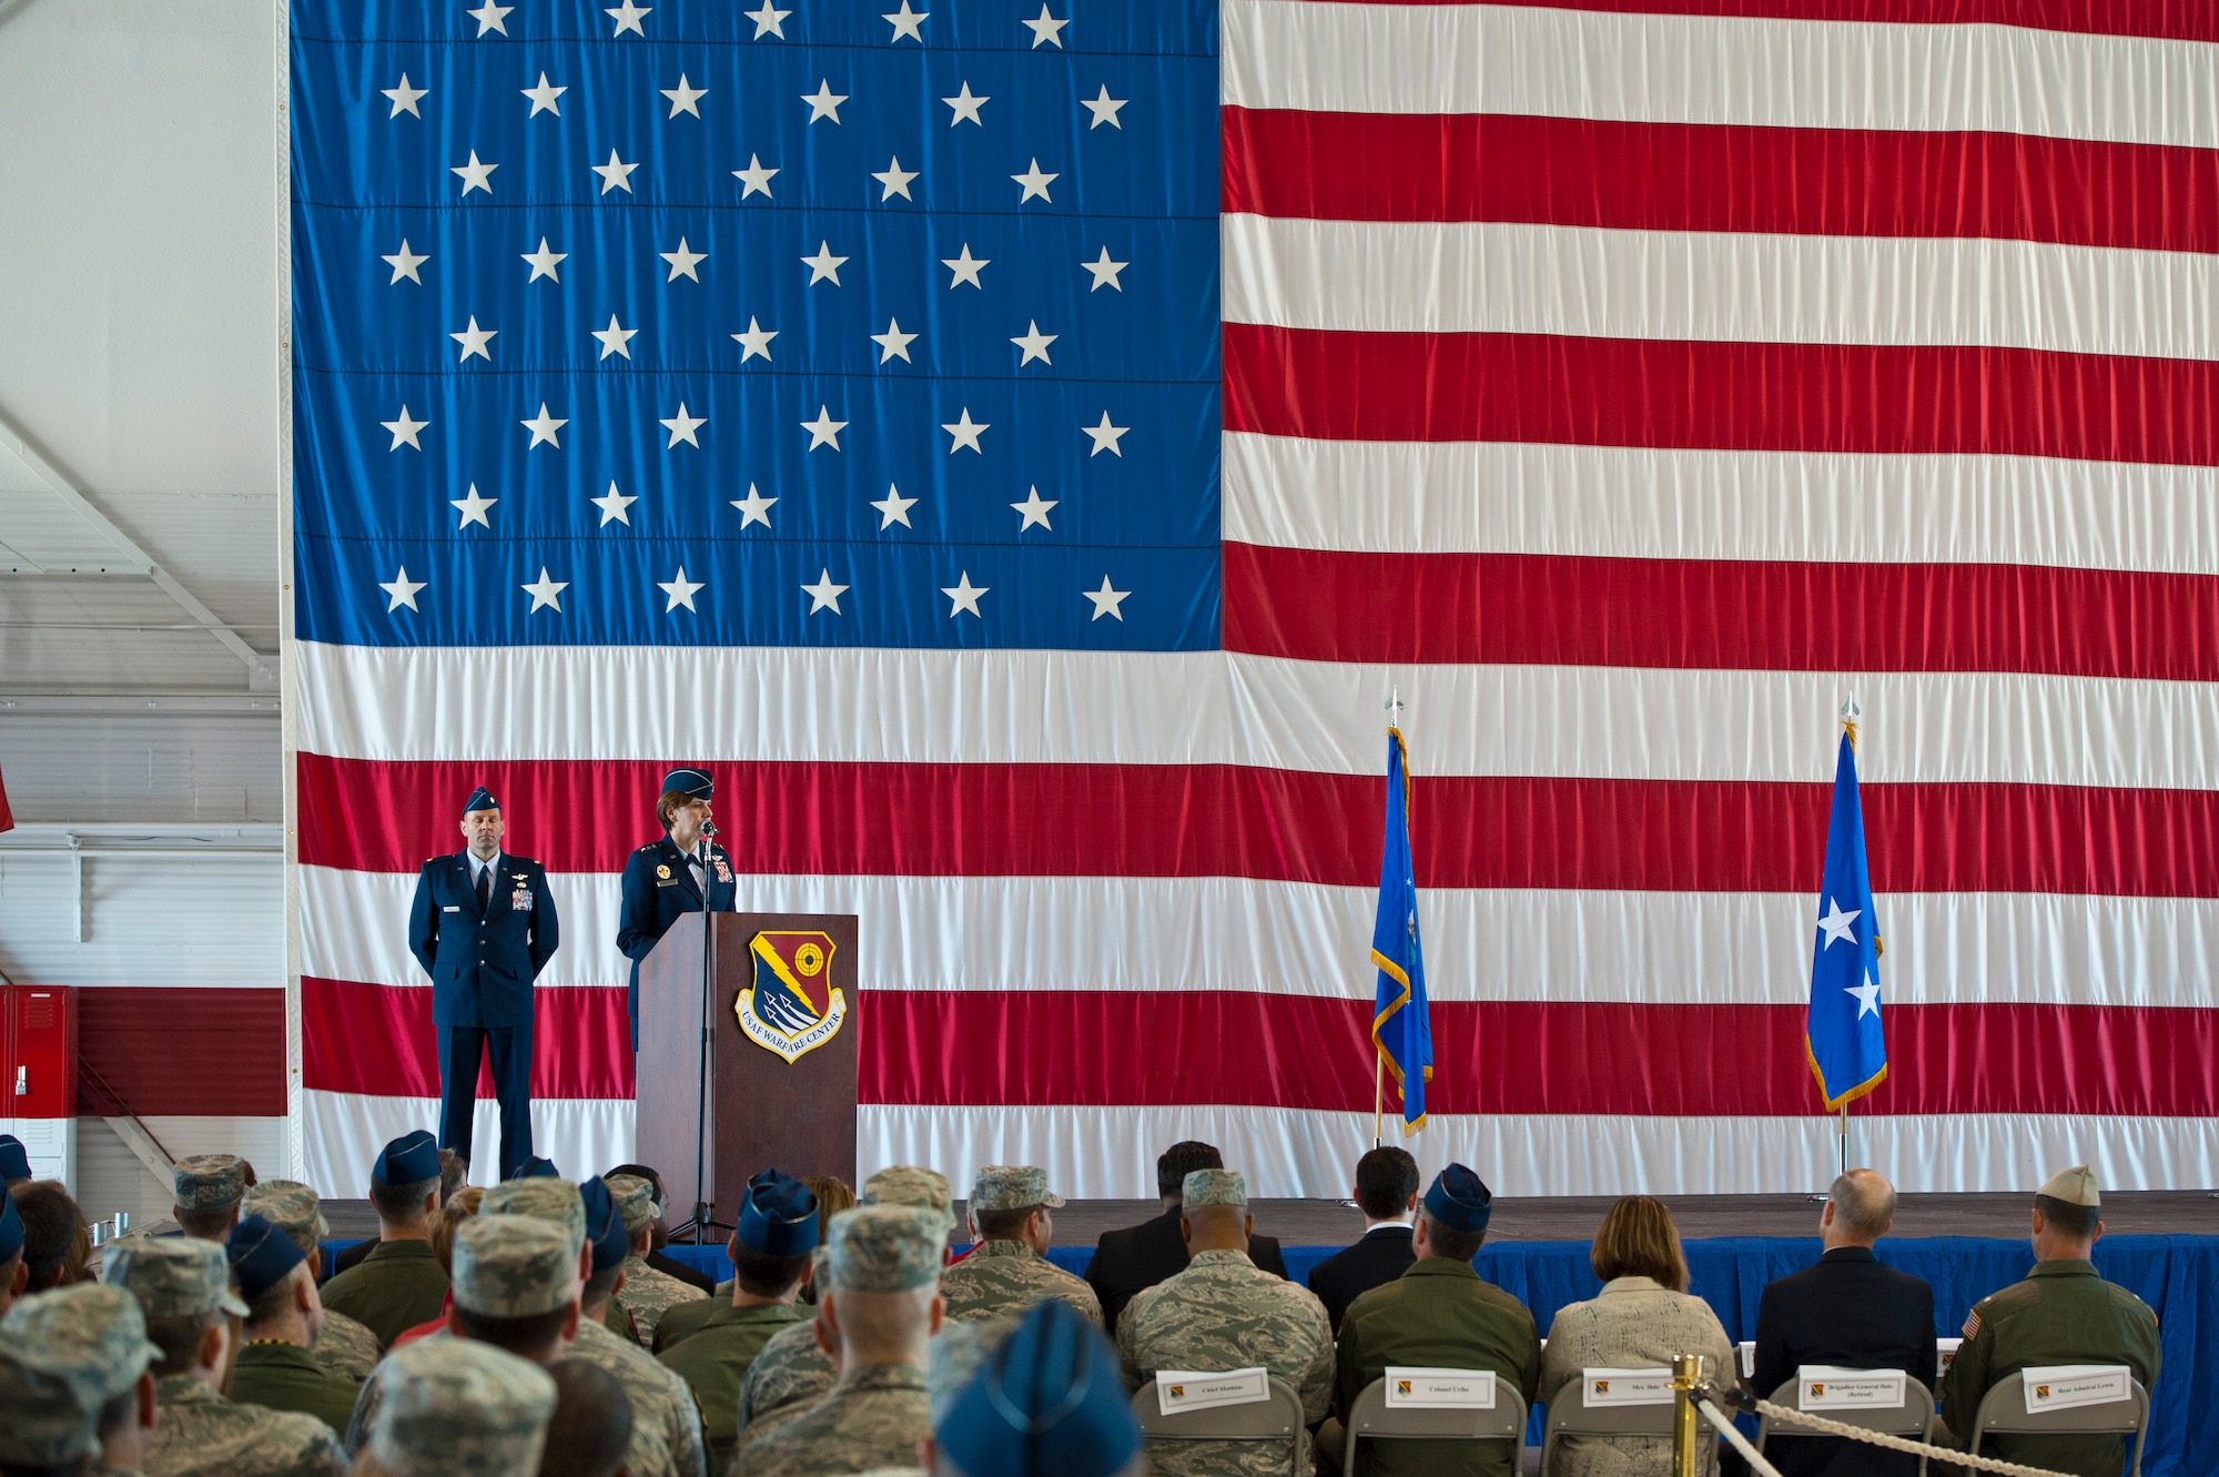
M 109 1282 L 138 1297 L 153 1366 L 155 1428 L 149 1477 L 337 1477 L 346 1453 L 331 1426 L 297 1410 L 264 1410 L 222 1393 L 231 1364 L 231 1295 L 224 1249 L 191 1235 L 138 1235 L 109 1251 Z

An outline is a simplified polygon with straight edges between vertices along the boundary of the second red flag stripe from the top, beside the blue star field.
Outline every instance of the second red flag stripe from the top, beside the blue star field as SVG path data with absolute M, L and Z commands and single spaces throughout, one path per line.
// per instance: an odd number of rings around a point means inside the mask
M 1234 106 L 1223 140 L 1229 213 L 2219 251 L 2219 149 Z

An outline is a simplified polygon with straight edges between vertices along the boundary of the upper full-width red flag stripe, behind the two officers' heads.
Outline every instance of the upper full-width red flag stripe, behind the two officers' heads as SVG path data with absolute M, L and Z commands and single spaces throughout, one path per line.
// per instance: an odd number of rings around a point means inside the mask
M 663 761 L 375 763 L 302 754 L 300 860 L 415 872 L 493 787 L 506 845 L 617 872 Z M 1380 781 L 1236 765 L 719 763 L 741 872 L 1249 876 L 1371 887 Z M 1418 776 L 1420 887 L 1815 894 L 1833 787 Z M 2219 792 L 1864 785 L 1877 892 L 2219 896 Z M 646 834 L 644 834 L 646 832 Z

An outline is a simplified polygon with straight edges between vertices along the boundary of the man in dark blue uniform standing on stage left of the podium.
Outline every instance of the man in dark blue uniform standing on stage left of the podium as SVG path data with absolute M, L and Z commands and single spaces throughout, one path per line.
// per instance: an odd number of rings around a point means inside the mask
M 462 803 L 457 856 L 417 874 L 408 951 L 430 976 L 439 1031 L 439 1147 L 470 1158 L 477 1065 L 493 1062 L 501 1104 L 501 1178 L 533 1158 L 533 980 L 555 958 L 559 925 L 548 874 L 501 852 L 501 803 L 484 785 Z

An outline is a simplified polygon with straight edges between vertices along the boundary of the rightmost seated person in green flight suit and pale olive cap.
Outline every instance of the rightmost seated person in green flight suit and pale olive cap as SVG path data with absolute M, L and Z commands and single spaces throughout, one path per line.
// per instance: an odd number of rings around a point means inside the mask
M 2035 1193 L 2035 1271 L 1973 1304 L 1942 1391 L 1942 1419 L 1959 1446 L 1973 1442 L 1982 1397 L 2022 1368 L 2124 1364 L 2144 1388 L 2157 1386 L 2157 1315 L 2099 1277 L 2090 1260 L 2104 1235 L 2101 1206 L 2086 1164 L 2059 1169 Z M 2073 1477 L 2119 1477 L 2126 1461 L 2115 1435 L 1993 1435 L 1979 1455 Z

